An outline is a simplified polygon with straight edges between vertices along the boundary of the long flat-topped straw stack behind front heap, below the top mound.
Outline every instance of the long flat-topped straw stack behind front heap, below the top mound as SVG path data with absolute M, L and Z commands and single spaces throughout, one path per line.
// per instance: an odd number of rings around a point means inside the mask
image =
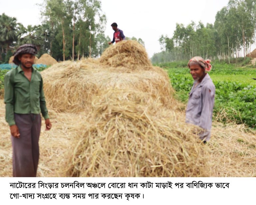
M 172 88 L 167 73 L 160 69 L 124 73 L 90 59 L 64 61 L 42 72 L 44 92 L 48 102 L 60 112 L 90 110 L 92 98 L 108 88 L 147 92 L 170 107 Z

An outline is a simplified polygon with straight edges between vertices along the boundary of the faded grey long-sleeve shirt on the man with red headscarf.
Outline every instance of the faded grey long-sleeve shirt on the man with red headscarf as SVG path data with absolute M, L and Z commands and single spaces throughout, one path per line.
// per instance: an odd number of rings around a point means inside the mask
M 200 138 L 206 138 L 205 140 L 209 141 L 212 127 L 215 86 L 208 73 L 196 87 L 195 83 L 196 81 L 189 93 L 186 122 L 203 128 L 205 132 L 200 134 Z

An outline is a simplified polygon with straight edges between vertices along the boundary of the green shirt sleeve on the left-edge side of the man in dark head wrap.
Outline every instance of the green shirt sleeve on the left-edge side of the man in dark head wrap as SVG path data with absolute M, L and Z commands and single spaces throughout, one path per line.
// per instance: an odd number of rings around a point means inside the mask
M 10 74 L 4 76 L 5 120 L 9 126 L 15 125 L 14 120 L 14 86 Z

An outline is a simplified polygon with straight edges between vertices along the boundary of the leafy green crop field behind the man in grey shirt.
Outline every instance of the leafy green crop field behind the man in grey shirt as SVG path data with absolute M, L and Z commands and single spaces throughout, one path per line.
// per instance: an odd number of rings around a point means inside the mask
M 162 67 L 168 71 L 171 84 L 177 91 L 176 98 L 186 103 L 193 85 L 189 69 L 175 68 L 171 64 L 169 68 L 166 64 Z M 223 123 L 244 123 L 255 128 L 256 80 L 252 78 L 256 78 L 256 68 L 213 63 L 209 75 L 216 87 L 214 119 Z

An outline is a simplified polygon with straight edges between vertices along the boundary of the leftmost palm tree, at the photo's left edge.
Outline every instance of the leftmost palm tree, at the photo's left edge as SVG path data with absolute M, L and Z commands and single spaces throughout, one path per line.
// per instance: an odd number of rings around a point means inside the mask
M 6 52 L 9 50 L 9 46 L 17 40 L 17 19 L 15 17 L 9 17 L 4 13 L 0 15 L 0 43 L 3 47 L 6 45 Z

